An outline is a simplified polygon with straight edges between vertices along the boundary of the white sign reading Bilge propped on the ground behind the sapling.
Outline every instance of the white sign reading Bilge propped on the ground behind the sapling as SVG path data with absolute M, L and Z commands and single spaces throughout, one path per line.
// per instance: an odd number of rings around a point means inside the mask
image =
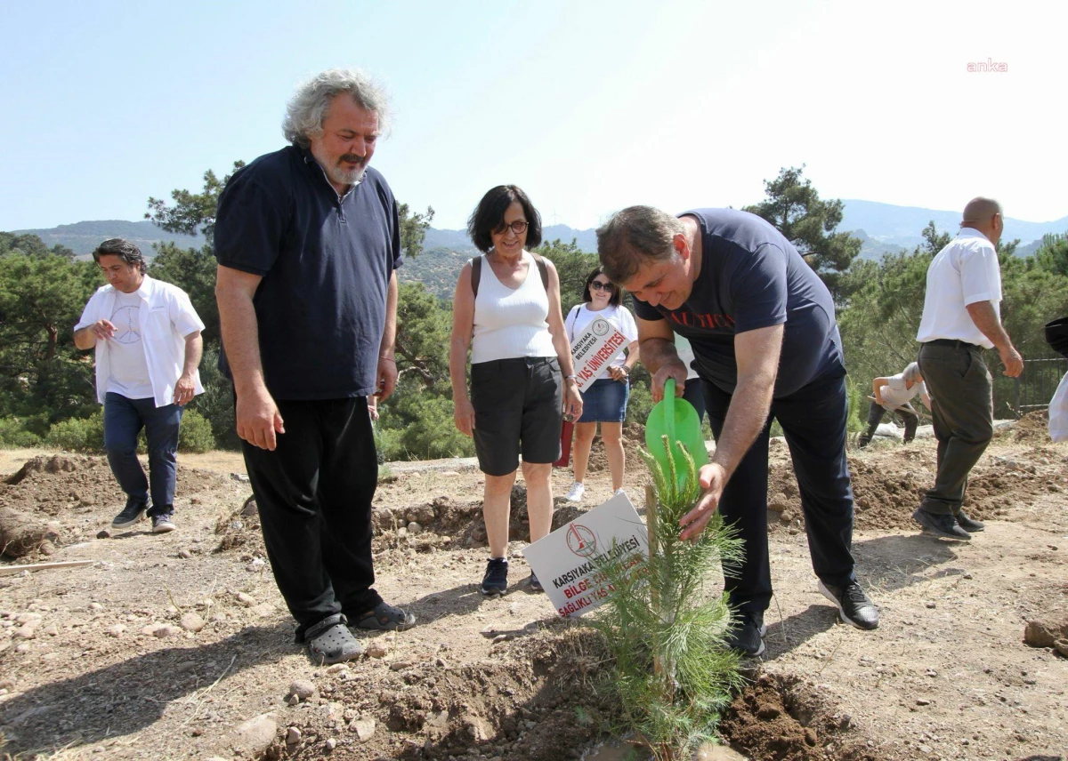
M 577 617 L 600 605 L 611 591 L 597 565 L 621 556 L 627 558 L 625 566 L 641 562 L 648 557 L 647 537 L 630 500 L 626 494 L 616 494 L 528 545 L 523 555 L 556 613 L 565 618 Z

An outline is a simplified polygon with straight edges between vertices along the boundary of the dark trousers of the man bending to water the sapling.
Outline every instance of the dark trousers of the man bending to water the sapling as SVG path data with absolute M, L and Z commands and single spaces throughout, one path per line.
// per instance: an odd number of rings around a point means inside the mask
M 712 433 L 723 432 L 731 394 L 703 381 L 705 407 Z M 846 461 L 845 370 L 817 379 L 794 394 L 771 402 L 764 430 L 731 476 L 720 512 L 744 543 L 739 567 L 724 566 L 731 605 L 760 613 L 771 602 L 768 564 L 768 441 L 771 421 L 778 419 L 794 460 L 812 567 L 824 584 L 845 586 L 857 581 L 851 552 L 853 491 Z

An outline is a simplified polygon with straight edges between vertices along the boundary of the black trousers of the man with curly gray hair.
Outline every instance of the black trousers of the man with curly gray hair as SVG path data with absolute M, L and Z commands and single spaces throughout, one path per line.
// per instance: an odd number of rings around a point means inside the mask
M 371 501 L 378 458 L 367 399 L 277 400 L 273 451 L 241 442 L 267 558 L 297 619 L 297 641 L 324 618 L 381 602 L 372 585 Z

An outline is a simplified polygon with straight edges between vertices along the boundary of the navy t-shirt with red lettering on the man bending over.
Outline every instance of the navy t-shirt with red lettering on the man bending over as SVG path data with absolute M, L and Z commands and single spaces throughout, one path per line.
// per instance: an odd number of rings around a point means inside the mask
M 770 326 L 785 323 L 775 398 L 832 370 L 844 374 L 831 292 L 790 241 L 747 211 L 679 216 L 695 218 L 701 227 L 701 273 L 690 298 L 677 310 L 634 299 L 634 314 L 668 319 L 689 338 L 697 374 L 728 394 L 738 383 L 735 335 Z

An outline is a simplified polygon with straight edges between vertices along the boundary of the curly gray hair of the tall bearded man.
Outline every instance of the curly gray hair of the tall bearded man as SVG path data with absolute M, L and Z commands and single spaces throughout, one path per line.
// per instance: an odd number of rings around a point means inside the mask
M 294 145 L 307 148 L 312 138 L 323 134 L 323 122 L 330 102 L 348 95 L 357 106 L 378 116 L 378 130 L 390 126 L 389 94 L 371 75 L 359 68 L 330 68 L 300 85 L 285 109 L 282 133 Z

